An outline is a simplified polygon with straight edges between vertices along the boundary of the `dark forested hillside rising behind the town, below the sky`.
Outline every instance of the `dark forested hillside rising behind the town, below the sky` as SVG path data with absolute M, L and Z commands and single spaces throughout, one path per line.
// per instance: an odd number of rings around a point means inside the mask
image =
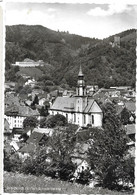
M 79 65 L 87 84 L 99 87 L 135 85 L 136 32 L 127 30 L 120 36 L 120 48 L 112 47 L 114 36 L 104 40 L 92 39 L 68 32 L 56 32 L 43 26 L 15 25 L 6 27 L 6 80 L 16 81 L 11 66 L 25 58 L 45 62 L 39 67 L 43 79 L 56 85 L 76 85 Z M 10 75 L 10 76 L 9 76 Z

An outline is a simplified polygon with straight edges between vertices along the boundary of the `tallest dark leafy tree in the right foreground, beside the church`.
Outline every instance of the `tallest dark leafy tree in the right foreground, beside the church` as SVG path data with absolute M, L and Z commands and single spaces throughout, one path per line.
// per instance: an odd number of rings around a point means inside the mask
M 103 187 L 113 189 L 118 185 L 119 179 L 123 181 L 126 179 L 122 167 L 127 155 L 127 137 L 121 128 L 121 122 L 116 115 L 114 105 L 105 104 L 103 111 L 103 129 L 90 129 L 88 156 L 90 164 L 94 165 L 94 171 L 99 175 Z M 120 171 L 117 171 L 118 169 Z

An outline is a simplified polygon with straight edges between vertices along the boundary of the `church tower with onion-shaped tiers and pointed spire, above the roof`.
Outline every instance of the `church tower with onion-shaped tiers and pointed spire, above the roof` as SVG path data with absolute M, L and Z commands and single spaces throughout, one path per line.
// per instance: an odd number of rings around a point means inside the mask
M 77 96 L 86 96 L 86 86 L 84 81 L 84 74 L 82 73 L 82 68 L 80 66 L 79 74 L 78 74 L 78 82 L 76 89 Z

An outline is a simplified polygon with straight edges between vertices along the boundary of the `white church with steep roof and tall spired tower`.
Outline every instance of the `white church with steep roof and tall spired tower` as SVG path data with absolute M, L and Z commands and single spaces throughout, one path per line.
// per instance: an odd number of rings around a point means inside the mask
M 84 74 L 80 67 L 76 88 L 73 97 L 57 97 L 49 110 L 50 115 L 61 114 L 72 124 L 86 127 L 102 127 L 103 113 L 97 102 L 87 96 Z

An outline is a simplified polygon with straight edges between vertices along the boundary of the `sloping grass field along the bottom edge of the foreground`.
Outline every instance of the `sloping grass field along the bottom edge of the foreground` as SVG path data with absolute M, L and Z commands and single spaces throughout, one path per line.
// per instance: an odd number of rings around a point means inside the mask
M 51 179 L 50 177 L 4 172 L 5 193 L 52 193 L 52 194 L 98 194 L 127 195 L 133 193 L 116 192 L 102 188 L 89 188 L 80 184 Z

